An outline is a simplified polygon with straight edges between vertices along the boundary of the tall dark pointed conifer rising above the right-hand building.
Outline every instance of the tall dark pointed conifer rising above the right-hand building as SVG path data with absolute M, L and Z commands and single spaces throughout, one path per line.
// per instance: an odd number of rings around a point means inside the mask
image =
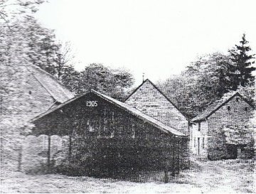
M 249 42 L 245 39 L 245 34 L 243 34 L 240 45 L 235 45 L 235 48 L 229 50 L 230 60 L 232 61 L 230 64 L 232 90 L 237 90 L 239 85 L 245 87 L 255 83 L 255 76 L 252 75 L 255 70 L 255 67 L 252 67 L 252 64 L 255 63 L 253 60 L 255 55 L 249 54 L 251 48 L 247 43 Z

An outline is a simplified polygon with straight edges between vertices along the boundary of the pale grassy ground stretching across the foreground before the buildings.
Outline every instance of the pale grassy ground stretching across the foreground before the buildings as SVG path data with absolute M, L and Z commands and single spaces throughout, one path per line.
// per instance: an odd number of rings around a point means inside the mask
M 169 183 L 2 172 L 1 193 L 256 193 L 254 161 L 193 163 Z

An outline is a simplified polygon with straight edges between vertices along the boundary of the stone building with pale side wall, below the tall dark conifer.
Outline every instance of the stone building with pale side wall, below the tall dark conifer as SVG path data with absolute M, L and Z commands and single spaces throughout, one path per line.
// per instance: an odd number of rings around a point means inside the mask
M 192 119 L 191 154 L 212 160 L 251 158 L 253 137 L 248 121 L 253 109 L 239 92 L 230 92 L 210 104 Z

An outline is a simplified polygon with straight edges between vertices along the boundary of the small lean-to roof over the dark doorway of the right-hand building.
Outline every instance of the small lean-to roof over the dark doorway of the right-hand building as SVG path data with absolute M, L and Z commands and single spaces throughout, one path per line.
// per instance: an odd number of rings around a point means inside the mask
M 250 133 L 238 126 L 230 125 L 223 128 L 225 144 L 245 145 L 250 143 Z

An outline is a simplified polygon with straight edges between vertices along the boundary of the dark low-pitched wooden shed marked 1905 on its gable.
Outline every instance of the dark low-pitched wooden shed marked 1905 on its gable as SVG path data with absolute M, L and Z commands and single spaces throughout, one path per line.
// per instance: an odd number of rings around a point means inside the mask
M 94 90 L 49 109 L 32 122 L 33 134 L 47 134 L 49 144 L 52 135 L 69 136 L 69 161 L 84 170 L 188 168 L 186 134 Z

